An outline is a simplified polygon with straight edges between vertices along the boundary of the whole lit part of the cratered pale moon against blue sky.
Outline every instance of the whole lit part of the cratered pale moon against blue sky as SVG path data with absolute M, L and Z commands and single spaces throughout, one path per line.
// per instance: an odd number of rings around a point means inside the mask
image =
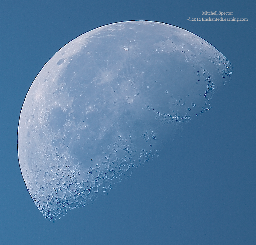
M 210 109 L 232 69 L 204 39 L 160 22 L 114 23 L 66 44 L 20 113 L 20 168 L 38 209 L 64 215 L 157 156 L 180 125 Z

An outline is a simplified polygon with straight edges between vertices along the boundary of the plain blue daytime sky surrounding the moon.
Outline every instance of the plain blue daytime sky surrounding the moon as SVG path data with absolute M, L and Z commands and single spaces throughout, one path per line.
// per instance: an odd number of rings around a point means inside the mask
M 0 1 L 0 244 L 256 244 L 255 1 Z M 202 11 L 246 22 L 188 22 Z M 75 37 L 125 20 L 187 29 L 233 64 L 212 109 L 155 162 L 55 223 L 31 199 L 17 157 L 27 91 Z

